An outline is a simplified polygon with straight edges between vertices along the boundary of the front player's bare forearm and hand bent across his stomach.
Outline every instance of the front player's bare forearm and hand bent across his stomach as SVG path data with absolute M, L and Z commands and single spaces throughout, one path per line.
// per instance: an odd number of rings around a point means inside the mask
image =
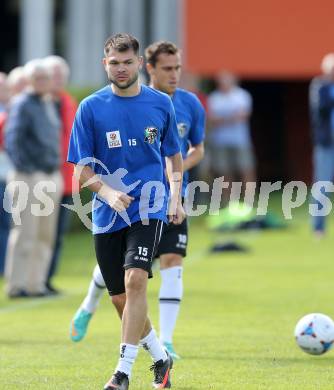
M 114 190 L 104 183 L 89 166 L 76 165 L 74 174 L 83 187 L 98 193 L 117 212 L 127 209 L 134 198 L 124 192 Z

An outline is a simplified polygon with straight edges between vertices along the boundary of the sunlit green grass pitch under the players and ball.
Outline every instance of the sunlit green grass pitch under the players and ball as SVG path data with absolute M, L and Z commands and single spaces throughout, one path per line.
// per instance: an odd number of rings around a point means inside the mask
M 295 345 L 293 330 L 306 313 L 334 316 L 333 223 L 321 242 L 310 234 L 303 211 L 286 230 L 233 236 L 246 254 L 209 254 L 231 236 L 192 223 L 185 262 L 185 294 L 175 346 L 173 388 L 333 389 L 334 351 L 320 357 Z M 107 296 L 87 338 L 69 340 L 68 328 L 94 265 L 89 233 L 66 240 L 56 285 L 64 294 L 48 300 L 0 298 L 0 389 L 102 389 L 113 371 L 120 322 Z M 1 288 L 3 283 L 1 282 Z M 150 281 L 150 316 L 157 324 L 159 276 Z M 141 351 L 131 389 L 149 389 L 149 357 Z

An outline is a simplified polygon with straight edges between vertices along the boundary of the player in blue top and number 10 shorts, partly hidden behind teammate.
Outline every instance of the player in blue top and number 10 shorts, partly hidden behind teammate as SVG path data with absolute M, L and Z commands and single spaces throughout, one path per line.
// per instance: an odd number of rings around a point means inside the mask
M 155 42 L 145 52 L 151 86 L 172 98 L 178 123 L 178 137 L 183 157 L 184 176 L 182 196 L 186 195 L 188 170 L 196 166 L 204 155 L 205 111 L 198 98 L 191 92 L 178 88 L 181 74 L 179 49 L 171 42 Z M 157 256 L 160 257 L 161 288 L 160 339 L 170 355 L 176 354 L 172 336 L 183 295 L 182 259 L 188 243 L 187 221 L 180 225 L 169 224 L 163 231 Z M 80 341 L 86 334 L 88 323 L 95 312 L 105 288 L 98 266 L 95 268 L 88 294 L 71 323 L 71 339 Z M 113 302 L 122 312 L 124 297 L 114 296 Z

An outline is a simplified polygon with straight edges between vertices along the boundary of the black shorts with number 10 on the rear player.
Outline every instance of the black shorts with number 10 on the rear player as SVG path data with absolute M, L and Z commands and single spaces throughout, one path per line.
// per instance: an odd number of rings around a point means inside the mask
M 164 226 L 156 257 L 167 253 L 176 253 L 185 257 L 188 245 L 188 222 L 185 218 L 181 225 L 170 223 Z

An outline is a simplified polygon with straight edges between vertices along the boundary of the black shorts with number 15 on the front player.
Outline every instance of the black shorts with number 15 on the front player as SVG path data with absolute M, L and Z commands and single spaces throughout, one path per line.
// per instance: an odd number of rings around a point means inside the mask
M 152 277 L 152 260 L 158 248 L 164 223 L 151 219 L 113 233 L 95 234 L 97 262 L 110 295 L 125 292 L 124 275 L 129 268 L 141 268 Z

